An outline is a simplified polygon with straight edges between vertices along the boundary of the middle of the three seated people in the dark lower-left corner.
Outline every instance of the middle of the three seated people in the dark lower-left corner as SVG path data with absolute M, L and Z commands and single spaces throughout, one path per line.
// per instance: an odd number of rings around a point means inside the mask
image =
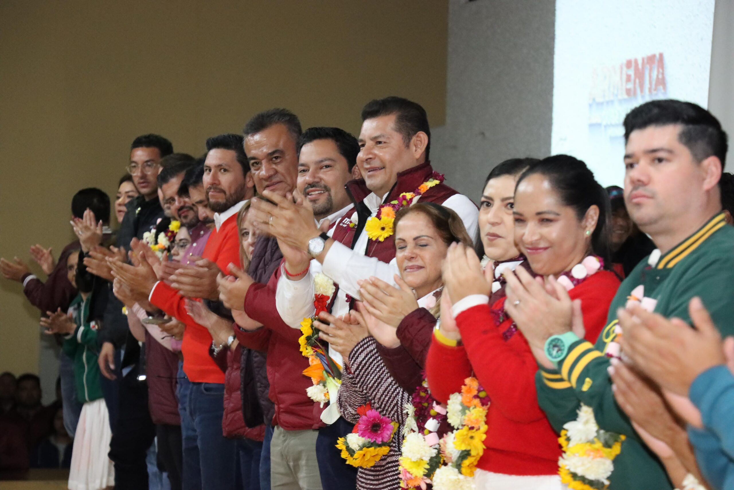
M 41 382 L 37 375 L 26 373 L 18 376 L 15 389 L 15 409 L 4 416 L 21 428 L 29 454 L 54 428 L 54 408 L 41 403 Z

